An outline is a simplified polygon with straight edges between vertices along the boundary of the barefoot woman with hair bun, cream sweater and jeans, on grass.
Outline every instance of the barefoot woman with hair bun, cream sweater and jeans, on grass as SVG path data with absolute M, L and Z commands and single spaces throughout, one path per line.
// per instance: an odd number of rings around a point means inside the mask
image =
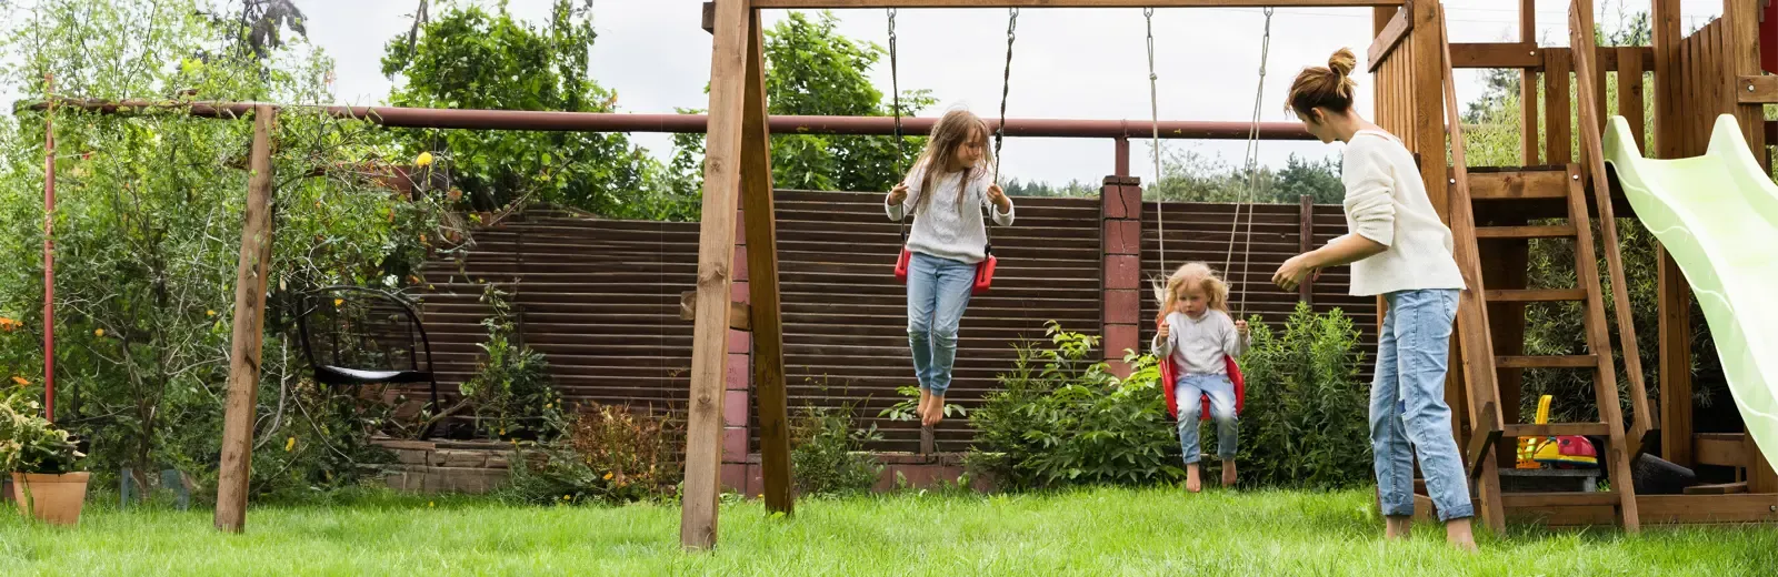
M 1446 524 L 1446 540 L 1476 549 L 1469 478 L 1451 437 L 1444 401 L 1451 321 L 1463 275 L 1451 229 L 1438 220 L 1414 154 L 1399 138 L 1351 110 L 1357 57 L 1335 51 L 1326 67 L 1305 67 L 1291 85 L 1289 108 L 1321 142 L 1346 142 L 1346 236 L 1298 254 L 1273 275 L 1284 289 L 1325 268 L 1351 265 L 1351 295 L 1389 304 L 1376 343 L 1371 383 L 1371 451 L 1385 536 L 1406 538 L 1414 520 L 1414 458 Z M 1442 151 L 1438 154 L 1444 154 Z

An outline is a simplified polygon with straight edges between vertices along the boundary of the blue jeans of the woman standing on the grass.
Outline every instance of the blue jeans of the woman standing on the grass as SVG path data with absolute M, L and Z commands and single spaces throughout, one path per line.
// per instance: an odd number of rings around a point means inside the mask
M 1438 520 L 1476 515 L 1463 458 L 1451 437 L 1451 407 L 1444 401 L 1456 295 L 1456 289 L 1383 295 L 1389 311 L 1371 383 L 1371 453 L 1383 515 L 1414 515 L 1415 454 Z

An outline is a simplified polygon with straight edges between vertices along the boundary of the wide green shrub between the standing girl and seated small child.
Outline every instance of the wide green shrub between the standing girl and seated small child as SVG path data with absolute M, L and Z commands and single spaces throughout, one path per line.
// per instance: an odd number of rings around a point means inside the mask
M 1010 488 L 1150 485 L 1184 478 L 1152 357 L 1118 380 L 1090 360 L 1099 337 L 1049 325 L 1049 344 L 1019 344 L 1013 369 L 971 414 L 973 470 Z

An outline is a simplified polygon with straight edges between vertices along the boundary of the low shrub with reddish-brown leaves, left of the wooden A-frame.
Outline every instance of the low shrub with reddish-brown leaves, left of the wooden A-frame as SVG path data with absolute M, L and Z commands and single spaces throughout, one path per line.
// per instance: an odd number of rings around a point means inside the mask
M 685 419 L 590 403 L 558 440 L 517 447 L 501 499 L 528 504 L 670 499 L 685 467 Z

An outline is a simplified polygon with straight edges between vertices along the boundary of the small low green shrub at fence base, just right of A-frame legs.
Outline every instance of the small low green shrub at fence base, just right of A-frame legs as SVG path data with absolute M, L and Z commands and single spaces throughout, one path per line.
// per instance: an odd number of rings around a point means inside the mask
M 882 440 L 877 426 L 857 428 L 857 405 L 804 407 L 789 423 L 789 463 L 802 495 L 869 492 L 882 474 L 864 444 Z

